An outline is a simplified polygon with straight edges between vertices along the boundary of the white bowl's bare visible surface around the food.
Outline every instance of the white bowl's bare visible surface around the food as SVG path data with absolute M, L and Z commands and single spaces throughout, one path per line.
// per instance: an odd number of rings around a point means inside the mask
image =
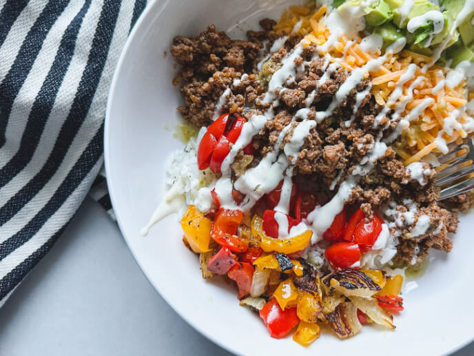
M 341 341 L 331 333 L 309 348 L 291 337 L 272 339 L 258 315 L 238 305 L 234 286 L 204 281 L 198 258 L 183 245 L 175 215 L 140 235 L 163 196 L 164 165 L 182 146 L 173 137 L 181 103 L 172 85 L 176 68 L 169 46 L 177 34 L 193 35 L 214 23 L 242 37 L 262 17 L 278 18 L 291 1 L 156 1 L 136 24 L 116 68 L 105 121 L 105 166 L 118 224 L 138 265 L 169 305 L 216 344 L 245 355 L 438 355 L 473 339 L 474 295 L 470 274 L 474 224 L 462 219 L 452 253 L 435 261 L 404 295 L 395 331 L 364 327 Z M 294 1 L 293 1 L 294 3 Z M 245 26 L 238 25 L 245 23 Z M 168 128 L 168 129 L 167 129 Z M 179 330 L 175 330 L 179 332 Z

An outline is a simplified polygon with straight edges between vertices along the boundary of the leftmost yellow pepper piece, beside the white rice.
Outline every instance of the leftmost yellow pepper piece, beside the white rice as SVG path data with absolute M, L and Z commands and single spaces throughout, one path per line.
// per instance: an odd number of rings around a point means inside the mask
M 187 208 L 183 219 L 181 219 L 181 228 L 185 233 L 185 239 L 195 253 L 205 253 L 211 250 L 209 248 L 211 227 L 211 219 L 205 217 L 194 205 Z

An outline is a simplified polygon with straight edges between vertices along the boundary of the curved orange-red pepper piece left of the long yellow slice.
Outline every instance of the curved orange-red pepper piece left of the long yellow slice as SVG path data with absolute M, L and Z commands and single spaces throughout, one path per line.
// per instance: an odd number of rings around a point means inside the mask
M 236 235 L 237 228 L 242 220 L 242 211 L 219 208 L 212 226 L 212 239 L 232 252 L 244 253 L 249 246 Z

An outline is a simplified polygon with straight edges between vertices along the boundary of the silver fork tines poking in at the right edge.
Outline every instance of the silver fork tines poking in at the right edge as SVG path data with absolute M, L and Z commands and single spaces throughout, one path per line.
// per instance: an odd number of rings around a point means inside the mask
M 449 152 L 437 157 L 442 169 L 436 175 L 436 185 L 441 188 L 440 199 L 448 199 L 474 189 L 474 144 L 448 145 Z

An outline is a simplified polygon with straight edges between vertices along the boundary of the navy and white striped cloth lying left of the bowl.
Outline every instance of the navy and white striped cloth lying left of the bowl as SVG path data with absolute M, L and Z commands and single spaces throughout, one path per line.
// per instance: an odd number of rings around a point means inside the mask
M 0 306 L 103 165 L 114 68 L 146 0 L 0 0 Z M 110 204 L 96 180 L 92 195 Z

